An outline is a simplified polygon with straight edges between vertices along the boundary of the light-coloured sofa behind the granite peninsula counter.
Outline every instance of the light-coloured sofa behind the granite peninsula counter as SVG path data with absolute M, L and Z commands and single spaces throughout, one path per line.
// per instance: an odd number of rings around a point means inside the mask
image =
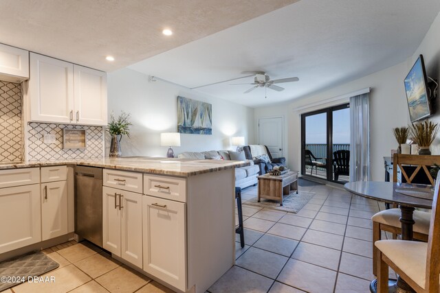
M 230 160 L 230 151 L 228 150 L 210 150 L 208 152 L 182 152 L 179 154 L 181 159 L 217 159 L 217 160 Z M 250 161 L 250 160 L 245 160 Z M 249 166 L 235 168 L 235 187 L 245 188 L 250 185 L 256 185 L 259 176 L 260 167 L 254 165 L 253 161 L 250 161 Z

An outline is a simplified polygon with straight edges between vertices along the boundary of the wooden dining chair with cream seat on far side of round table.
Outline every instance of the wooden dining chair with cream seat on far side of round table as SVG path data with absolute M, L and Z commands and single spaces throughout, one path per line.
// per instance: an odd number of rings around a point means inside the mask
M 421 156 L 412 154 L 394 154 L 393 157 L 393 182 L 397 182 L 397 166 L 400 169 L 401 176 L 406 179 L 407 183 L 412 183 L 412 180 L 416 178 L 416 175 L 423 170 L 423 172 L 430 180 L 430 183 L 434 184 L 428 167 L 434 165 L 434 163 L 440 164 L 440 156 Z M 417 166 L 412 174 L 407 174 L 403 165 L 415 165 Z M 398 208 L 386 209 L 373 215 L 371 220 L 373 221 L 373 242 L 380 240 L 382 237 L 382 231 L 393 233 L 393 239 L 397 239 L 397 234 L 401 234 L 401 222 L 399 218 L 401 211 Z M 412 218 L 415 224 L 412 226 L 413 238 L 427 242 L 428 231 L 431 213 L 427 211 L 414 211 Z M 377 248 L 373 245 L 373 274 L 377 275 Z

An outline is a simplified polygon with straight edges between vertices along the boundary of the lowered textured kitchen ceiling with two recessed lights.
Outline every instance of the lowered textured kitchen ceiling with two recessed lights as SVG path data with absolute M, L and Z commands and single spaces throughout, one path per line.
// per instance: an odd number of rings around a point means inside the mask
M 113 71 L 296 1 L 1 0 L 0 43 Z

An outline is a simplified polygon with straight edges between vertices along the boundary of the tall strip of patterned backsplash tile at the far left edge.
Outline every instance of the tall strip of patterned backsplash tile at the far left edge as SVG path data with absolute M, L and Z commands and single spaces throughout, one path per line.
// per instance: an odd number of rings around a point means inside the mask
M 0 81 L 0 162 L 22 159 L 21 85 Z

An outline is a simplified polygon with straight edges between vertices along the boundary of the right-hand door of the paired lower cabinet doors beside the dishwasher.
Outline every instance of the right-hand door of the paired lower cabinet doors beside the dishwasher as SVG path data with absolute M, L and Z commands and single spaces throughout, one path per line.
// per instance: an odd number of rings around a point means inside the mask
M 142 194 L 120 191 L 121 257 L 142 268 Z

